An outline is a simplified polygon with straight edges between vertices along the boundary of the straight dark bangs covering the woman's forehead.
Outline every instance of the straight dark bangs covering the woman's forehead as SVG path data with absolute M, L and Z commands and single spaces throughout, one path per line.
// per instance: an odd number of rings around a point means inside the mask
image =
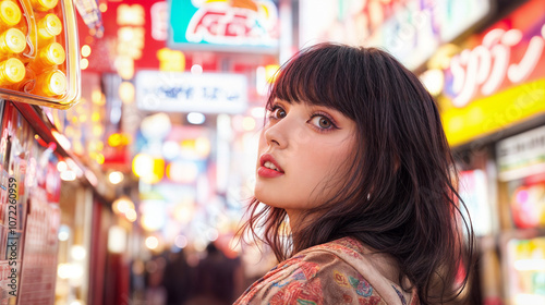
M 316 45 L 300 52 L 277 72 L 277 78 L 267 100 L 267 109 L 271 108 L 275 99 L 280 99 L 289 103 L 304 102 L 329 107 L 355 120 L 354 101 L 348 98 L 353 95 L 341 94 L 338 88 L 354 87 L 347 86 L 347 82 L 360 77 L 359 72 L 347 70 L 347 66 L 359 64 L 356 61 L 360 61 L 361 57 L 356 56 L 356 51 Z

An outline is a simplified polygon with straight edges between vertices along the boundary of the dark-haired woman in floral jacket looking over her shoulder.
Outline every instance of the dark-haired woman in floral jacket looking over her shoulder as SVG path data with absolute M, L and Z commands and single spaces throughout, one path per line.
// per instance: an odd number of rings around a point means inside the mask
M 244 230 L 263 227 L 281 263 L 235 304 L 435 304 L 460 293 L 473 231 L 416 76 L 378 49 L 317 45 L 282 66 L 267 109 Z

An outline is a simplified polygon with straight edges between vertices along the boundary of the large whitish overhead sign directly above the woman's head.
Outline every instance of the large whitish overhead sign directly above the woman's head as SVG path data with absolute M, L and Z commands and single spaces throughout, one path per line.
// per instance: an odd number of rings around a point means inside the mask
M 415 70 L 491 11 L 489 0 L 299 0 L 300 47 L 337 41 L 388 50 Z

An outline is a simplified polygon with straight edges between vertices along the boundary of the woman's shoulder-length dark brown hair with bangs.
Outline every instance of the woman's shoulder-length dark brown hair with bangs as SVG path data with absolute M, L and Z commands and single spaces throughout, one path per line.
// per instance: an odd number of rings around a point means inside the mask
M 256 198 L 243 230 L 255 236 L 264 229 L 257 237 L 279 260 L 352 236 L 391 255 L 400 282 L 407 277 L 422 304 L 456 297 L 468 281 L 455 285 L 461 264 L 470 270 L 472 259 L 463 257 L 473 257 L 474 235 L 437 106 L 419 78 L 385 51 L 320 44 L 279 70 L 268 108 L 275 99 L 342 112 L 356 123 L 358 147 L 338 194 L 306 211 L 313 221 L 292 232 L 292 244 L 280 230 L 286 211 L 259 209 Z

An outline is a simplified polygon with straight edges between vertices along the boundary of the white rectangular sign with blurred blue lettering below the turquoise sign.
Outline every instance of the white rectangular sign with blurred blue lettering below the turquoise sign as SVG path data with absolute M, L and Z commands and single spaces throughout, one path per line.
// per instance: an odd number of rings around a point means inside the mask
M 241 74 L 141 71 L 135 87 L 137 107 L 147 111 L 234 114 L 247 105 Z

